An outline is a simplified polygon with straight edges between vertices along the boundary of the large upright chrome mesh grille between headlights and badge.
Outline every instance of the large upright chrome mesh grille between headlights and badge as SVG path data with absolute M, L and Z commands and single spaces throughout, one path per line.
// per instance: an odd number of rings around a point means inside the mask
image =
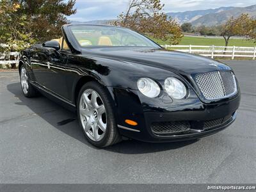
M 227 70 L 200 74 L 196 83 L 207 100 L 230 97 L 237 92 L 234 74 Z

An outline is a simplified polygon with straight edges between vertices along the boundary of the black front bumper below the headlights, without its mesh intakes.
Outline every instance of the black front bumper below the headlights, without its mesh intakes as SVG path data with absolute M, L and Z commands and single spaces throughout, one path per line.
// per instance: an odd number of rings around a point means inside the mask
M 219 132 L 236 120 L 239 107 L 240 93 L 236 97 L 225 99 L 215 104 L 205 104 L 193 92 L 189 99 L 173 101 L 166 99 L 166 95 L 156 99 L 149 99 L 136 90 L 113 88 L 116 102 L 116 117 L 120 134 L 148 142 L 184 141 L 202 138 Z M 218 120 L 229 116 L 221 124 L 204 127 L 205 122 Z M 125 120 L 138 122 L 137 126 L 125 124 Z M 186 122 L 189 129 L 182 132 L 152 131 L 152 124 L 162 122 Z

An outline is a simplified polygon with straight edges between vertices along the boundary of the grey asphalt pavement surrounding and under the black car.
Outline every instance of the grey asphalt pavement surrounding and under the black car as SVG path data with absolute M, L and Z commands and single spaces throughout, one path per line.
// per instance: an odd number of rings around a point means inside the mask
M 76 115 L 22 95 L 0 72 L 0 183 L 255 183 L 256 61 L 225 61 L 241 87 L 237 120 L 201 140 L 92 147 Z

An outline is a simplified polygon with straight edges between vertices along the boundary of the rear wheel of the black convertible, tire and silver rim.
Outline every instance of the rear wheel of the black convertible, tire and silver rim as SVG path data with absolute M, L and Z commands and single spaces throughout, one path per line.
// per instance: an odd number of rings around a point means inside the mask
M 29 83 L 28 72 L 24 64 L 20 67 L 20 85 L 25 97 L 35 97 L 37 95 L 36 89 Z

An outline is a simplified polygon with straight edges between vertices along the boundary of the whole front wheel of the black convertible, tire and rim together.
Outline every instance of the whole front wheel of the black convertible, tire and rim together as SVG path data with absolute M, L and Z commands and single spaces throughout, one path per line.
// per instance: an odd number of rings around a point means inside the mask
M 96 147 L 108 147 L 122 141 L 116 127 L 113 102 L 108 90 L 90 81 L 77 98 L 77 118 L 86 139 Z

